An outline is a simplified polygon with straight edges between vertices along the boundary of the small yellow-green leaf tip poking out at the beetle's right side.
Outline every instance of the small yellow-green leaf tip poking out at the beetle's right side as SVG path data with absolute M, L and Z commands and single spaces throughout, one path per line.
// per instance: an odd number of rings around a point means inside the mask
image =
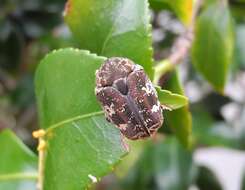
M 163 90 L 159 86 L 156 86 L 155 88 L 161 105 L 167 109 L 175 110 L 188 104 L 188 98 L 185 96 L 172 93 L 168 90 Z

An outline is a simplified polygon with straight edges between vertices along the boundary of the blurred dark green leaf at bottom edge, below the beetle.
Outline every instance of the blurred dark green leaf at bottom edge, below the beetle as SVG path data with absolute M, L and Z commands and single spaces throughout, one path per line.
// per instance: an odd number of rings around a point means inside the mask
M 175 137 L 168 137 L 146 147 L 124 179 L 123 189 L 188 189 L 194 172 L 192 152 L 184 149 Z

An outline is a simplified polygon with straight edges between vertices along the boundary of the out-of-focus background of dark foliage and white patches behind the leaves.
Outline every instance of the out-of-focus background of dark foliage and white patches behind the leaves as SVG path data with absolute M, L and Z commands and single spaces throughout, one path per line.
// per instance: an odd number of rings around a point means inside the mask
M 132 164 L 127 175 L 111 174 L 95 189 L 245 189 L 245 185 L 242 187 L 245 178 L 242 176 L 245 171 L 245 2 L 230 0 L 229 3 L 236 41 L 226 95 L 215 93 L 188 64 L 189 58 L 180 66 L 193 115 L 193 151 L 188 152 L 171 137 L 154 146 L 146 142 L 142 152 L 135 151 L 135 157 L 139 157 L 135 164 L 125 160 L 125 165 Z M 0 1 L 0 130 L 13 129 L 34 151 L 36 142 L 31 132 L 38 129 L 33 86 L 35 69 L 51 50 L 78 47 L 63 22 L 64 5 L 65 0 Z M 151 13 L 154 57 L 160 60 L 169 55 L 171 45 L 184 32 L 184 26 L 167 7 Z M 220 166 L 208 168 L 205 163 L 209 163 L 209 158 L 213 158 L 214 166 L 221 163 Z M 238 170 L 239 174 L 233 173 Z M 219 173 L 227 173 L 226 178 L 217 178 Z M 239 185 L 233 186 L 235 183 Z

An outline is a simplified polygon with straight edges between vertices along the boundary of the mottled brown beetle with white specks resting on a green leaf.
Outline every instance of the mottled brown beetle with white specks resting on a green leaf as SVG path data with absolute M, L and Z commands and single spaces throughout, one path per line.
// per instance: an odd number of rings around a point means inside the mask
M 106 119 L 131 140 L 152 136 L 162 126 L 156 90 L 143 68 L 129 59 L 107 59 L 96 71 L 95 93 Z

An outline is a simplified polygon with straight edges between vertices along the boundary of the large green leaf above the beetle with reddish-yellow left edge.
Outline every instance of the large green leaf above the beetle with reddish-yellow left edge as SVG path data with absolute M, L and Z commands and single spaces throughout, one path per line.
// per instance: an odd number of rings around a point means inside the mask
M 65 21 L 82 49 L 127 57 L 152 77 L 148 0 L 68 0 Z

